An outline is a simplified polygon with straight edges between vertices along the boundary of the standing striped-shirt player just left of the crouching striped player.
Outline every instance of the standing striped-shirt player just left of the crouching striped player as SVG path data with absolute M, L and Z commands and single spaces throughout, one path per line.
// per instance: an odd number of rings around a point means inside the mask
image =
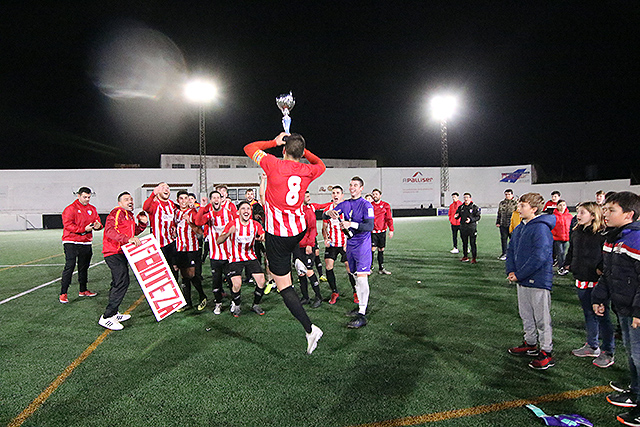
M 222 207 L 222 194 L 219 191 L 212 191 L 209 194 L 208 205 L 200 208 L 196 214 L 195 223 L 199 226 L 208 226 L 209 256 L 211 258 L 211 279 L 213 281 L 213 296 L 215 298 L 215 308 L 213 314 L 222 313 L 222 291 L 224 279 L 227 274 L 229 257 L 231 256 L 231 241 L 227 240 L 218 244 L 216 239 L 227 223 L 234 219 L 231 210 Z

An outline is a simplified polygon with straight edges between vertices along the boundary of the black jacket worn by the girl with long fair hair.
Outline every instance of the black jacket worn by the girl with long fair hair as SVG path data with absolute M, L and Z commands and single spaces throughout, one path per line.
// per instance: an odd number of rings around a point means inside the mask
M 605 236 L 602 233 L 592 233 L 591 227 L 578 226 L 571 232 L 569 251 L 565 258 L 565 266 L 570 266 L 573 277 L 581 282 L 597 282 L 600 275 L 596 269 L 602 271 L 602 245 Z

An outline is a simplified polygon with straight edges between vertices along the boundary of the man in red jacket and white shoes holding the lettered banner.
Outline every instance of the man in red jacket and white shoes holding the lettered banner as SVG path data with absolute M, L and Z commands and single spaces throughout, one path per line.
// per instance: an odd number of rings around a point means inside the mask
M 119 331 L 124 326 L 120 322 L 131 318 L 130 314 L 118 312 L 120 303 L 129 289 L 129 263 L 122 251 L 122 246 L 131 243 L 140 246 L 140 239 L 136 236 L 147 228 L 149 218 L 142 211 L 138 214 L 138 221 L 133 216 L 133 197 L 128 192 L 120 193 L 116 206 L 105 221 L 102 239 L 102 254 L 104 261 L 111 270 L 111 289 L 109 290 L 109 304 L 98 324 L 113 331 Z

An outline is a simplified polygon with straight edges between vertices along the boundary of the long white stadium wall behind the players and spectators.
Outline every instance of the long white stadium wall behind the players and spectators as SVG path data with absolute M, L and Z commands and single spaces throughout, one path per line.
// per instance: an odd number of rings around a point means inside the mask
M 532 184 L 531 166 L 496 166 L 449 169 L 449 194 L 470 192 L 476 204 L 495 208 L 506 188 L 520 195 L 529 191 L 546 198 L 559 190 L 569 205 L 593 199 L 594 193 L 605 191 L 634 191 L 629 180 L 590 181 L 556 184 Z M 210 169 L 209 187 L 225 183 L 237 188 L 257 187 L 260 169 Z M 428 168 L 329 168 L 309 187 L 314 201 L 327 200 L 330 188 L 341 185 L 348 194 L 349 179 L 358 175 L 365 181 L 365 190 L 379 188 L 383 199 L 394 208 L 420 208 L 440 203 L 440 169 Z M 0 171 L 0 230 L 42 228 L 42 214 L 60 214 L 74 199 L 81 186 L 94 191 L 91 203 L 100 213 L 108 213 L 122 191 L 129 191 L 136 209 L 160 181 L 172 184 L 172 191 L 187 189 L 197 193 L 197 169 L 73 169 L 73 170 L 3 170 Z

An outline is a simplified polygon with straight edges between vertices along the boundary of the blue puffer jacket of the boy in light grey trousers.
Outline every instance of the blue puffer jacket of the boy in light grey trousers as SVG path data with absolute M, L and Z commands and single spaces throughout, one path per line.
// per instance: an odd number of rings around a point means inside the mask
M 530 288 L 551 290 L 553 282 L 553 235 L 555 215 L 539 215 L 521 222 L 511 235 L 507 250 L 507 274 Z

